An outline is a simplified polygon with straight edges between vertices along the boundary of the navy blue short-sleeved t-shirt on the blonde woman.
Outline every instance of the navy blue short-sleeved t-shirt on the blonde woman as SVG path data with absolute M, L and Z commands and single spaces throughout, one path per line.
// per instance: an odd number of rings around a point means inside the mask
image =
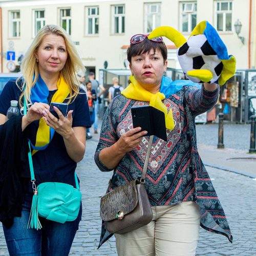
M 48 102 L 50 104 L 53 94 L 49 91 Z M 86 93 L 81 89 L 81 94 L 75 98 L 68 106 L 68 111 L 73 110 L 72 127 L 86 126 L 91 127 L 90 112 Z M 19 100 L 22 92 L 17 87 L 15 80 L 7 82 L 0 95 L 0 113 L 6 115 L 10 107 L 11 100 Z M 67 102 L 65 100 L 64 102 Z M 27 137 L 35 145 L 36 132 L 39 121 L 34 121 L 26 128 Z M 45 150 L 36 152 L 32 156 L 36 184 L 42 182 L 63 182 L 75 185 L 74 172 L 76 162 L 68 155 L 64 140 L 61 135 L 54 133 L 54 136 Z

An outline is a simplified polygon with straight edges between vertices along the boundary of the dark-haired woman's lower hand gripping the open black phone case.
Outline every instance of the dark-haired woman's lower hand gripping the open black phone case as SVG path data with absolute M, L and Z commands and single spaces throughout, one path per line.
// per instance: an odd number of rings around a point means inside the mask
M 143 136 L 147 134 L 147 131 L 140 131 L 141 127 L 136 127 L 124 133 L 116 142 L 118 150 L 123 154 L 134 150 L 134 148 L 142 141 Z

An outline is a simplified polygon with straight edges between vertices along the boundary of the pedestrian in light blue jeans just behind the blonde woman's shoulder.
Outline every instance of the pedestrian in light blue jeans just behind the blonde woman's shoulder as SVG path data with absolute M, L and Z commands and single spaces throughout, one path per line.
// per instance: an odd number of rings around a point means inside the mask
M 92 89 L 96 92 L 97 100 L 94 104 L 94 111 L 95 111 L 95 121 L 94 121 L 94 133 L 98 133 L 98 104 L 101 104 L 101 95 L 105 92 L 105 88 L 102 84 L 99 84 L 98 80 L 95 80 L 95 73 L 90 72 L 88 76 L 89 80 L 92 83 Z

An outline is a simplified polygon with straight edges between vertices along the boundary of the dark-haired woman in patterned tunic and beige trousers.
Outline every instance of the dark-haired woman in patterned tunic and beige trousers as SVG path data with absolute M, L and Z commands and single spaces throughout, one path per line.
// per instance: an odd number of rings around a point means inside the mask
M 150 104 L 158 94 L 167 109 L 167 142 L 154 137 L 145 179 L 153 220 L 134 231 L 115 234 L 118 255 L 195 255 L 199 226 L 224 234 L 230 229 L 211 180 L 200 159 L 195 117 L 215 105 L 216 83 L 200 85 L 164 77 L 167 49 L 161 37 L 135 35 L 127 50 L 132 76 L 103 118 L 95 162 L 102 172 L 114 170 L 110 191 L 140 178 L 149 136 L 133 128 L 131 108 Z M 181 86 L 181 83 L 182 86 Z M 166 90 L 168 89 L 168 90 Z M 113 234 L 102 223 L 101 246 Z

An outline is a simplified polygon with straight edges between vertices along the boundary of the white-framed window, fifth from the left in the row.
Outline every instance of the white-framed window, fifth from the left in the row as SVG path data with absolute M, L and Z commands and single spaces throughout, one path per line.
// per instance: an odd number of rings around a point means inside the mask
M 113 22 L 112 33 L 124 33 L 124 5 L 112 6 Z

